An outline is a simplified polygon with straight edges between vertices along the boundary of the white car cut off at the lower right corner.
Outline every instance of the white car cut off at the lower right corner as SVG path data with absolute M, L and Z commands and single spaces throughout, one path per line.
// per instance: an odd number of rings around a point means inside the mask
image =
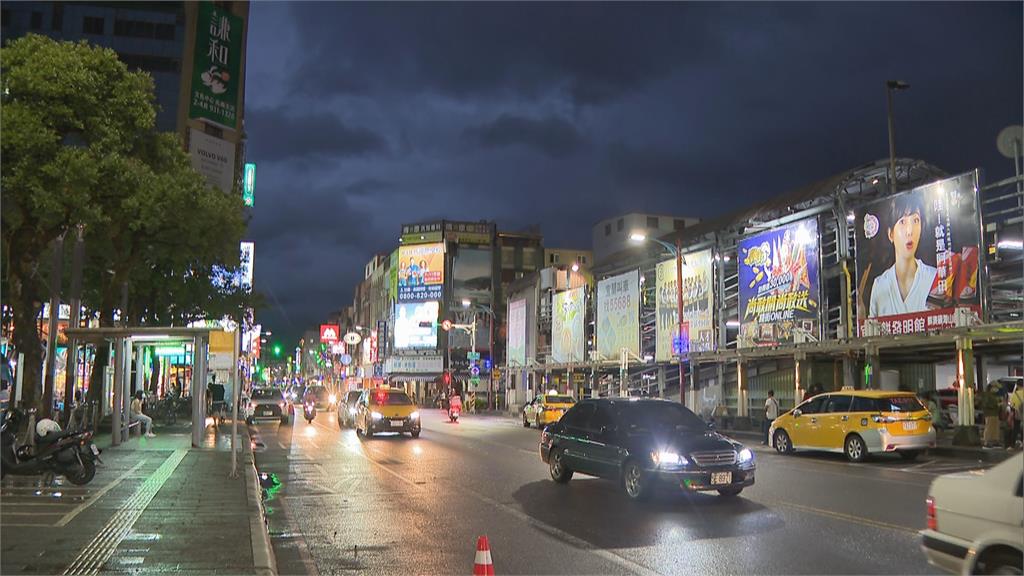
M 1024 454 L 988 469 L 940 476 L 928 491 L 928 562 L 956 574 L 1022 574 Z

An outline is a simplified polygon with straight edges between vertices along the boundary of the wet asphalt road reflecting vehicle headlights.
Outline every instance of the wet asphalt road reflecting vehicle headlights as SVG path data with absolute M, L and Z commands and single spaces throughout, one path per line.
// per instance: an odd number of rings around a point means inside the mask
M 540 433 L 514 419 L 423 410 L 418 440 L 360 440 L 335 413 L 253 428 L 282 574 L 457 574 L 490 541 L 499 574 L 935 573 L 919 548 L 925 496 L 968 460 L 757 451 L 739 498 L 659 494 L 634 504 L 610 482 L 552 482 Z

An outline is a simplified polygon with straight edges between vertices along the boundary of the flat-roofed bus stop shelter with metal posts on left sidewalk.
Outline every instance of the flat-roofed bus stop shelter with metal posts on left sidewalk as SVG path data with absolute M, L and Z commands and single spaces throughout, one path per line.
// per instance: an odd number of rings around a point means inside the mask
M 191 444 L 193 447 L 199 447 L 202 444 L 206 428 L 207 357 L 210 346 L 210 332 L 214 330 L 216 328 L 156 326 L 69 328 L 67 330 L 69 342 L 73 342 L 74 346 L 100 345 L 109 342 L 114 351 L 114 381 L 111 386 L 114 396 L 111 412 L 111 444 L 113 446 L 118 446 L 128 440 L 132 355 L 134 354 L 136 359 L 140 361 L 142 349 L 145 346 L 174 343 L 190 343 L 193 345 Z M 75 356 L 75 351 L 69 354 L 69 358 Z M 141 379 L 141 370 L 138 370 L 136 374 L 136 378 Z M 78 382 L 75 382 L 75 385 L 77 386 Z

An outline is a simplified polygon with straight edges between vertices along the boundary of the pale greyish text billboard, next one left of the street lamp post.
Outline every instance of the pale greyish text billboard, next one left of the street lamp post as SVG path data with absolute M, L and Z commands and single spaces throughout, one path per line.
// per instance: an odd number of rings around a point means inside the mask
M 622 348 L 640 356 L 640 271 L 597 283 L 597 352 L 617 359 Z

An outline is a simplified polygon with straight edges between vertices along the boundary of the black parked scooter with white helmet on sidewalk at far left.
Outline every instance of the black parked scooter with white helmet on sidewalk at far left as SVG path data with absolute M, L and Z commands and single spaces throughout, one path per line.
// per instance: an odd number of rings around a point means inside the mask
M 96 476 L 96 462 L 101 460 L 92 430 L 61 430 L 56 422 L 41 420 L 31 430 L 35 446 L 23 445 L 17 439 L 20 420 L 17 411 L 8 411 L 0 425 L 0 477 L 52 474 L 83 486 Z

